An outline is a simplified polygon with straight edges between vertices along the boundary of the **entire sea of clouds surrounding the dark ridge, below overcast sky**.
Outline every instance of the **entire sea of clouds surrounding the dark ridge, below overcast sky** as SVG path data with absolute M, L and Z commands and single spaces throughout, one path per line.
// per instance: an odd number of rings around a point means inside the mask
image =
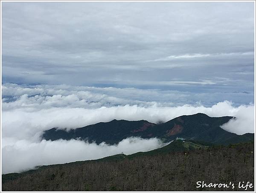
M 2 173 L 122 152 L 131 154 L 166 145 L 157 138 L 127 138 L 115 145 L 41 140 L 43 131 L 53 127 L 70 129 L 113 119 L 157 123 L 202 112 L 212 117 L 236 116 L 222 128 L 239 135 L 254 133 L 254 104 L 216 102 L 219 93 L 3 84 L 2 95 Z M 227 98 L 230 95 L 239 98 L 248 94 L 228 93 Z

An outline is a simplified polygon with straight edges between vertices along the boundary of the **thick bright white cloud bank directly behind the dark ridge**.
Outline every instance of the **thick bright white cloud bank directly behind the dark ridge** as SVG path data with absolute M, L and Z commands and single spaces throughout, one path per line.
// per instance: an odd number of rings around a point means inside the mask
M 254 133 L 254 106 L 233 107 L 228 101 L 220 102 L 212 107 L 183 105 L 178 107 L 139 107 L 125 105 L 117 107 L 101 107 L 97 109 L 83 108 L 49 108 L 49 109 L 12 109 L 3 111 L 3 138 L 15 140 L 27 139 L 39 141 L 42 131 L 53 127 L 77 128 L 113 119 L 129 121 L 147 120 L 157 123 L 169 121 L 181 115 L 192 115 L 198 112 L 212 117 L 235 116 L 223 129 L 239 135 Z M 120 128 L 121 129 L 121 128 Z

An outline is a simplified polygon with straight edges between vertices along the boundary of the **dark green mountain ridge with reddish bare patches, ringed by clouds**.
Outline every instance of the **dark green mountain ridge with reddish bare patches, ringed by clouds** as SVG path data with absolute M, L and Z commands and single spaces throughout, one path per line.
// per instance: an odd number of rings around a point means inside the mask
M 203 113 L 183 115 L 166 123 L 154 124 L 145 120 L 126 121 L 113 120 L 107 123 L 97 123 L 86 127 L 71 129 L 69 131 L 52 128 L 44 131 L 42 135 L 46 140 L 76 139 L 95 141 L 97 144 L 105 141 L 107 144 L 117 144 L 128 137 L 152 138 L 157 137 L 163 141 L 172 141 L 176 138 L 206 141 L 213 144 L 235 144 L 252 141 L 253 133 L 236 135 L 223 130 L 220 126 L 233 117 L 209 117 Z

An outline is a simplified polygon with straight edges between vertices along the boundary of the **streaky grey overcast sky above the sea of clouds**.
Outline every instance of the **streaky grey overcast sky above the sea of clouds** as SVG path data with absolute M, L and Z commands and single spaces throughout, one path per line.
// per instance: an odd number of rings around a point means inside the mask
M 2 9 L 4 83 L 253 93 L 253 2 L 3 2 Z

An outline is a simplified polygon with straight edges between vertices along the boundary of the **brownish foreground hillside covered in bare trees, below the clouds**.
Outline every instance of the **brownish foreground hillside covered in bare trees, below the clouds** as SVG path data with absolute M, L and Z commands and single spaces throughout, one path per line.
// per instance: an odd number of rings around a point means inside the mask
M 4 191 L 241 191 L 239 181 L 254 182 L 253 142 L 228 147 L 184 143 L 177 140 L 176 144 L 158 151 L 7 174 L 2 176 L 2 187 Z M 180 149 L 181 146 L 186 148 Z M 174 147 L 176 150 L 171 151 Z M 196 188 L 197 181 L 231 183 L 234 189 L 232 186 Z

